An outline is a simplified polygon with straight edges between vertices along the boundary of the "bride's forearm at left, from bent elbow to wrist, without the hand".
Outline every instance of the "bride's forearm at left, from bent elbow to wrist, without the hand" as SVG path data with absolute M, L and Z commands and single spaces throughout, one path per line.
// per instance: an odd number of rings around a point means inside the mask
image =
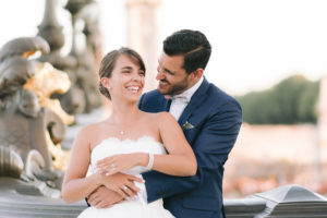
M 63 201 L 73 203 L 84 199 L 101 185 L 100 177 L 99 173 L 94 173 L 86 178 L 73 179 L 63 183 L 61 191 Z

